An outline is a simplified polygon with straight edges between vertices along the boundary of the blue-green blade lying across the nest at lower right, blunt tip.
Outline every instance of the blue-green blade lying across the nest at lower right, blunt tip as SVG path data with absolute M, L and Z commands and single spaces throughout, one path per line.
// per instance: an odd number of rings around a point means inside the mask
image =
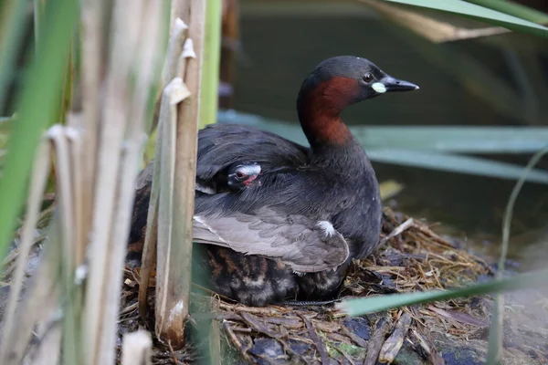
M 337 304 L 337 308 L 349 316 L 356 317 L 368 313 L 376 313 L 392 308 L 412 306 L 437 300 L 482 296 L 490 293 L 539 287 L 548 287 L 548 270 L 532 271 L 504 280 L 492 280 L 489 283 L 473 284 L 469 287 L 458 289 L 347 299 Z

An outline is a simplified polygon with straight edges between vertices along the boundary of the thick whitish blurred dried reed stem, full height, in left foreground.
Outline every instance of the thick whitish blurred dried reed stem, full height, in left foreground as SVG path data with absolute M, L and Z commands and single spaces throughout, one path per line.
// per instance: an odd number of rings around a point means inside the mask
M 142 90 L 133 94 L 131 78 L 135 55 L 142 55 L 143 48 L 138 47 L 143 46 L 140 40 L 150 42 L 149 36 L 140 34 L 142 24 L 153 22 L 151 26 L 155 28 L 160 22 L 158 17 L 148 17 L 146 11 L 152 9 L 145 9 L 145 4 L 147 2 L 143 0 L 114 2 L 111 22 L 113 41 L 105 79 L 105 105 L 100 120 L 94 235 L 90 243 L 90 281 L 84 327 L 88 345 L 86 349 L 89 351 L 86 360 L 91 364 L 113 363 L 115 355 L 123 257 L 134 194 L 132 184 L 137 172 L 137 155 L 143 133 L 144 110 L 139 102 L 142 103 L 142 99 L 148 95 L 148 90 L 144 94 Z M 128 16 L 129 9 L 132 16 Z M 159 16 L 161 12 L 153 10 L 153 14 Z M 143 61 L 141 66 L 150 64 Z M 144 72 L 145 80 L 149 79 L 146 75 L 153 74 L 146 69 L 140 71 Z M 139 83 L 140 87 L 147 87 L 146 82 L 141 80 Z

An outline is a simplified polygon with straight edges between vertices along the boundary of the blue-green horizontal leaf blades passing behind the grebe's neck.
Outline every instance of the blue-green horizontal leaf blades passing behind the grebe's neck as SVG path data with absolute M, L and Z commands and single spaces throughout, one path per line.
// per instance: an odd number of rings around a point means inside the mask
M 217 118 L 219 122 L 237 122 L 261 130 L 269 130 L 290 141 L 308 145 L 298 124 L 268 120 L 234 110 L 219 111 Z M 522 176 L 522 166 L 441 152 L 538 151 L 548 140 L 548 129 L 546 128 L 469 127 L 461 130 L 457 127 L 354 126 L 350 129 L 374 162 L 393 163 L 436 171 L 469 173 L 508 180 L 519 179 Z M 503 147 L 504 140 L 508 140 L 507 147 Z M 548 183 L 548 172 L 533 170 L 528 174 L 527 181 Z

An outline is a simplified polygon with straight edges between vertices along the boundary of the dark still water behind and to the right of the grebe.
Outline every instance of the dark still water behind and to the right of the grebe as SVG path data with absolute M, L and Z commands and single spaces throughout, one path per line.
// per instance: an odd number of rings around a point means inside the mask
M 237 68 L 236 110 L 297 123 L 295 99 L 302 79 L 324 58 L 354 55 L 373 60 L 385 72 L 414 82 L 421 89 L 354 105 L 342 115 L 348 124 L 546 125 L 547 120 L 541 117 L 546 115 L 542 100 L 548 95 L 539 94 L 539 90 L 548 89 L 548 47 L 538 46 L 531 36 L 496 36 L 493 42 L 508 44 L 503 47 L 485 40 L 435 45 L 371 16 L 246 15 L 245 4 L 242 6 L 243 54 Z M 531 101 L 529 111 L 509 115 L 512 109 L 500 101 L 503 98 L 490 102 L 490 96 L 478 97 L 473 85 L 478 78 L 474 72 L 467 72 L 466 65 L 459 69 L 460 56 L 479 63 L 511 89 L 517 89 L 522 82 L 516 77 L 516 69 L 524 69 L 529 78 L 537 75 L 533 78 L 535 93 L 525 95 Z M 518 68 L 510 68 L 516 57 Z M 531 65 L 544 74 L 539 78 L 535 69 L 528 69 Z M 493 95 L 496 92 L 494 88 Z M 510 101 L 524 105 L 519 99 Z M 530 158 L 482 157 L 522 165 Z M 539 167 L 548 168 L 547 162 L 545 159 Z M 387 203 L 416 218 L 443 224 L 438 231 L 468 237 L 473 248 L 497 255 L 502 214 L 513 182 L 384 163 L 375 163 L 374 167 L 380 182 L 394 179 L 405 185 L 403 192 Z M 512 225 L 512 258 L 528 263 L 531 256 L 545 255 L 547 218 L 548 189 L 542 184 L 526 183 Z M 545 257 L 548 259 L 548 255 Z

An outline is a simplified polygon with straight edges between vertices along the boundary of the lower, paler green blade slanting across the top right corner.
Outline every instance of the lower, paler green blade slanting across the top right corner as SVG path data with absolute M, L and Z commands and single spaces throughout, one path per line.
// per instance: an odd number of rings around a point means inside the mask
M 484 21 L 495 26 L 503 26 L 511 30 L 530 33 L 535 36 L 548 36 L 548 28 L 524 20 L 516 16 L 489 9 L 487 7 L 470 4 L 461 0 L 385 0 L 392 3 L 426 7 L 428 9 L 453 13 L 458 16 L 467 16 Z

